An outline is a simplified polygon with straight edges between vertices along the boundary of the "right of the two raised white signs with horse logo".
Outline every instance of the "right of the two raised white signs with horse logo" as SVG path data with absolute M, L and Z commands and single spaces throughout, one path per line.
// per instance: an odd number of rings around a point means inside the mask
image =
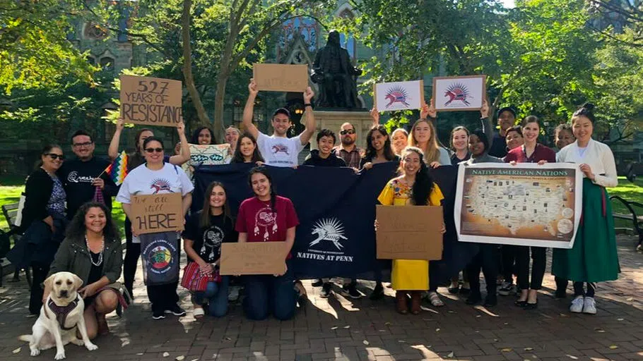
M 433 78 L 433 100 L 437 111 L 480 110 L 485 101 L 487 75 Z

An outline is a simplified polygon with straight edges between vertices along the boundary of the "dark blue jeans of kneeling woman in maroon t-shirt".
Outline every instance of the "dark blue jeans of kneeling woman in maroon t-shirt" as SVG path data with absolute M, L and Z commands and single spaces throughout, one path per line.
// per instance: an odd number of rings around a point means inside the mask
M 242 277 L 246 294 L 243 310 L 247 318 L 261 320 L 273 314 L 276 319 L 285 321 L 295 316 L 297 293 L 292 267 L 290 262 L 286 264 L 288 271 L 283 276 L 260 274 Z

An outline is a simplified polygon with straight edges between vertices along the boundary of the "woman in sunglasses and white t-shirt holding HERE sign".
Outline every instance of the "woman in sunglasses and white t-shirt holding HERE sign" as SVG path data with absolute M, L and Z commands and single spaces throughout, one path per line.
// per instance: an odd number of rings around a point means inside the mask
M 155 195 L 163 192 L 181 193 L 183 213 L 187 213 L 192 202 L 191 192 L 194 189 L 187 174 L 179 166 L 165 161 L 163 142 L 160 139 L 148 137 L 143 142 L 143 149 L 145 150 L 145 164 L 136 167 L 127 174 L 116 196 L 117 202 L 123 204 L 125 214 L 131 219 L 132 195 Z M 141 241 L 136 235 L 132 238 L 132 243 L 137 244 L 140 249 Z M 177 304 L 179 301 L 178 284 L 177 281 L 148 286 L 148 298 L 152 303 L 153 319 L 164 319 L 165 311 L 171 312 L 175 316 L 185 315 L 185 311 Z

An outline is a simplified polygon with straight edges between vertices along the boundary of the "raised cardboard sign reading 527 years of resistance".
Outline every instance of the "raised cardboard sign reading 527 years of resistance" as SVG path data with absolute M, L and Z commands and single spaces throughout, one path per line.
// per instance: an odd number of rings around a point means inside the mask
M 121 117 L 125 123 L 175 127 L 182 118 L 180 80 L 121 75 Z

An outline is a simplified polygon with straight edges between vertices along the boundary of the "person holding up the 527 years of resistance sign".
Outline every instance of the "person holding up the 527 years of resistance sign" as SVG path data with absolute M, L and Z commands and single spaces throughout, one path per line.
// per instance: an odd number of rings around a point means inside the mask
M 121 133 L 125 128 L 125 121 L 123 118 L 119 118 L 116 122 L 116 131 L 112 137 L 112 142 L 110 142 L 110 148 L 107 150 L 107 154 L 110 155 L 110 160 L 116 159 L 119 156 L 119 144 L 121 139 Z M 168 156 L 165 155 L 164 160 L 167 163 L 175 164 L 180 166 L 185 162 L 190 160 L 190 147 L 185 137 L 185 126 L 181 122 L 177 126 L 177 133 L 179 133 L 179 142 L 181 147 L 180 154 Z M 145 163 L 145 152 L 143 151 L 143 142 L 148 137 L 153 137 L 154 132 L 150 128 L 141 128 L 134 135 L 134 152 L 127 154 L 127 171 L 130 172 L 135 169 L 137 166 Z M 123 283 L 130 295 L 132 293 L 132 287 L 134 286 L 134 274 L 136 274 L 136 263 L 138 262 L 138 257 L 141 256 L 141 245 L 138 243 L 131 242 L 131 221 L 128 217 L 125 217 L 125 259 L 123 260 Z

